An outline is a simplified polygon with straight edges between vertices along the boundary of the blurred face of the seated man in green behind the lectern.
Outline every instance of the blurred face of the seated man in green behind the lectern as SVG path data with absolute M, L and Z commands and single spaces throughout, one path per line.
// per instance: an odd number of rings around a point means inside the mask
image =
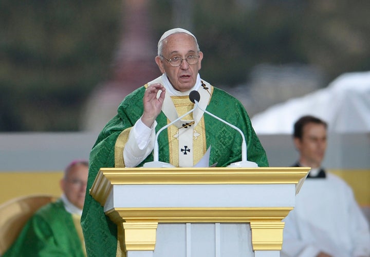
M 85 201 L 88 168 L 83 164 L 73 166 L 61 180 L 61 188 L 68 200 L 82 209 Z

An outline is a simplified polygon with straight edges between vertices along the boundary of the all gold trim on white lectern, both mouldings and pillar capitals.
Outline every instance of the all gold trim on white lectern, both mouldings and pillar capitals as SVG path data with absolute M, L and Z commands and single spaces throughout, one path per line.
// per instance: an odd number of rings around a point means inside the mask
M 90 194 L 104 206 L 114 185 L 295 184 L 310 168 L 102 168 Z M 284 219 L 293 207 L 113 208 L 124 250 L 154 250 L 158 223 L 250 223 L 253 250 L 281 250 Z

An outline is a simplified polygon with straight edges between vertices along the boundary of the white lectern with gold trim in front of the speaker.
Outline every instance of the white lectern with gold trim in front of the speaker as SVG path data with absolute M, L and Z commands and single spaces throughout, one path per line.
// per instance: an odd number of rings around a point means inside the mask
M 90 194 L 127 257 L 280 256 L 309 168 L 102 168 Z

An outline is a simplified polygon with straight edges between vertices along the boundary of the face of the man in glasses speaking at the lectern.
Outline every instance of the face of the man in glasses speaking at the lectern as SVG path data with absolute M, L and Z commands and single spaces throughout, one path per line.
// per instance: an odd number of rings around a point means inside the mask
M 165 60 L 175 57 L 185 59 L 188 56 L 199 56 L 197 64 L 189 65 L 186 60 L 178 67 L 173 67 Z M 168 36 L 163 44 L 162 56 L 156 57 L 156 63 L 162 73 L 166 73 L 172 86 L 178 91 L 190 90 L 196 82 L 198 70 L 201 67 L 203 53 L 198 52 L 194 38 L 187 33 L 175 33 Z

